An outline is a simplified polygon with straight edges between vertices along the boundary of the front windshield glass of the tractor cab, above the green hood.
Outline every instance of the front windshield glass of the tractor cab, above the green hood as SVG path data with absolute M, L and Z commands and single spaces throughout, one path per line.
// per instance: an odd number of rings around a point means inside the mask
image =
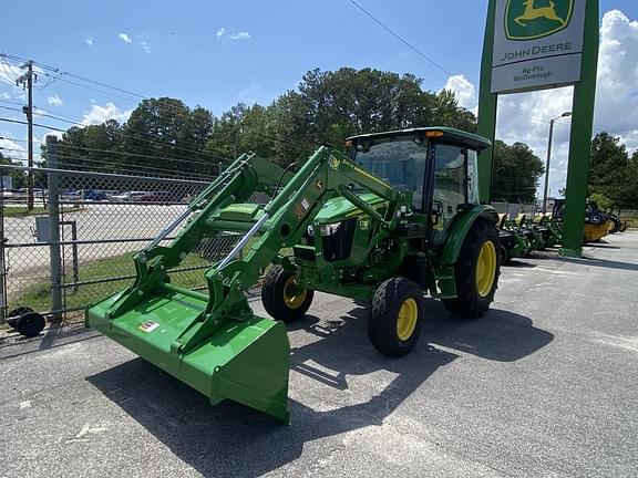
M 357 145 L 354 160 L 400 191 L 414 191 L 412 207 L 423 208 L 426 149 L 413 136 L 369 139 Z

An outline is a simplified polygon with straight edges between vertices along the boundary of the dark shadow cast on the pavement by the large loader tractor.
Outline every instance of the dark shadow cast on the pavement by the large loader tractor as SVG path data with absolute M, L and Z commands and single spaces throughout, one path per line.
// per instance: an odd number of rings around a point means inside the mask
M 430 304 L 429 309 L 434 308 Z M 381 425 L 440 367 L 459 357 L 426 342 L 495 361 L 515 361 L 553 339 L 511 312 L 493 311 L 480 320 L 456 322 L 440 308 L 429 312 L 430 322 L 414 351 L 390 358 L 370 345 L 367 315 L 367 309 L 358 306 L 340 320 L 320 322 L 308 316 L 292 325 L 307 331 L 310 335 L 305 339 L 312 342 L 292 349 L 291 368 L 316 380 L 310 386 L 313 391 L 323 384 L 346 389 L 348 376 L 379 371 L 395 374 L 391 383 L 377 386 L 371 381 L 364 395 L 353 391 L 352 396 L 369 397 L 363 403 L 342 395 L 347 403 L 339 403 L 340 392 L 322 391 L 327 406 L 321 411 L 289 399 L 290 426 L 233 402 L 213 407 L 203 395 L 142 358 L 88 381 L 204 476 L 257 477 L 298 458 L 308 441 Z M 306 381 L 295 375 L 291 382 Z M 312 399 L 317 397 L 311 395 Z

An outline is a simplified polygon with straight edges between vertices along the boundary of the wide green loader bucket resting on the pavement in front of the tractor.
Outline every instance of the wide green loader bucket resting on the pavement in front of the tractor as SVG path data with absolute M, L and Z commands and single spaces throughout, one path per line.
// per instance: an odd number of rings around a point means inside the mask
M 161 291 L 110 319 L 107 311 L 121 294 L 90 306 L 86 325 L 188 384 L 213 405 L 228 398 L 288 423 L 290 345 L 284 323 L 256 315 L 229 320 L 199 345 L 179 353 L 172 344 L 206 301 Z

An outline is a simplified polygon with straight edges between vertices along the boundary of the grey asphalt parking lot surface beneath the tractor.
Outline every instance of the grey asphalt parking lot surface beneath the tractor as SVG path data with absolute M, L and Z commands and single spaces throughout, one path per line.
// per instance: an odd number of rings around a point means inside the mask
M 290 426 L 78 324 L 0 332 L 0 476 L 638 476 L 638 232 L 585 254 L 504 267 L 478 320 L 429 301 L 399 360 L 362 304 L 318 294 L 289 326 Z

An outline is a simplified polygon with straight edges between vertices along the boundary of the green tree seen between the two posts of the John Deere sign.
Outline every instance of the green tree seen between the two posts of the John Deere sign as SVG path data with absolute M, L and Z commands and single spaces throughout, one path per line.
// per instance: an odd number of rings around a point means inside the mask
M 507 202 L 534 201 L 544 172 L 543 162 L 526 144 L 510 146 L 496 141 L 492 197 Z

